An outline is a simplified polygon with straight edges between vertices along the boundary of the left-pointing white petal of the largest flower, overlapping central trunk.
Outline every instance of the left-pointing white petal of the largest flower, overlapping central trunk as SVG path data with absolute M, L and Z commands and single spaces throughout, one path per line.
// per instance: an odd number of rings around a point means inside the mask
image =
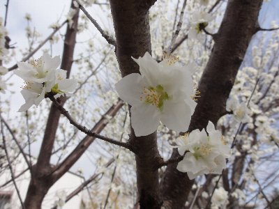
M 115 84 L 115 88 L 119 97 L 130 105 L 140 104 L 142 101 L 143 86 L 146 86 L 144 78 L 138 73 L 132 73 L 123 77 Z M 148 87 L 148 86 L 146 86 Z

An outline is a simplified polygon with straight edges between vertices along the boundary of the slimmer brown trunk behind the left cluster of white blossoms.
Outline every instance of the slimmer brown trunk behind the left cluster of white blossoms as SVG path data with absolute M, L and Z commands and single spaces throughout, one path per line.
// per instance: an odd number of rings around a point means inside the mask
M 73 1 L 71 8 L 75 8 Z M 73 28 L 67 26 L 66 36 L 64 41 L 63 56 L 61 61 L 61 69 L 67 70 L 67 77 L 70 75 L 70 69 L 73 63 L 73 52 L 75 49 L 75 37 L 77 33 L 77 20 L 78 11 L 73 17 Z M 61 99 L 61 104 L 66 102 L 66 98 Z M 45 127 L 45 134 L 43 137 L 43 143 L 40 148 L 40 153 L 36 166 L 31 169 L 31 180 L 29 188 L 27 190 L 27 196 L 24 201 L 25 208 L 35 209 L 40 208 L 45 194 L 48 189 L 55 183 L 55 181 L 48 176 L 51 171 L 50 157 L 52 155 L 52 148 L 54 146 L 54 140 L 56 130 L 59 124 L 60 111 L 52 104 L 50 108 L 50 114 L 47 119 L 47 125 Z

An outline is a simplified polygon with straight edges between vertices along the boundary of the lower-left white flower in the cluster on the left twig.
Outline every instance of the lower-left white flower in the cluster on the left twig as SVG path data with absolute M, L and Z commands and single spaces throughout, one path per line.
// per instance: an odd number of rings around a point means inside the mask
M 38 107 L 45 98 L 45 86 L 40 83 L 25 82 L 25 86 L 20 93 L 24 97 L 25 104 L 18 111 L 27 111 L 33 104 Z

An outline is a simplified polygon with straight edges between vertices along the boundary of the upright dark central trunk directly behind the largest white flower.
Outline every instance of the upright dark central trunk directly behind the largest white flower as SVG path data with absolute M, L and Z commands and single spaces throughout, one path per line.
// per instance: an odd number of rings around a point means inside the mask
M 155 1 L 110 0 L 116 35 L 116 57 L 122 77 L 136 72 L 139 66 L 131 59 L 151 53 L 149 8 Z M 137 189 L 141 208 L 160 208 L 156 132 L 135 137 L 131 127 L 130 145 L 137 164 Z

